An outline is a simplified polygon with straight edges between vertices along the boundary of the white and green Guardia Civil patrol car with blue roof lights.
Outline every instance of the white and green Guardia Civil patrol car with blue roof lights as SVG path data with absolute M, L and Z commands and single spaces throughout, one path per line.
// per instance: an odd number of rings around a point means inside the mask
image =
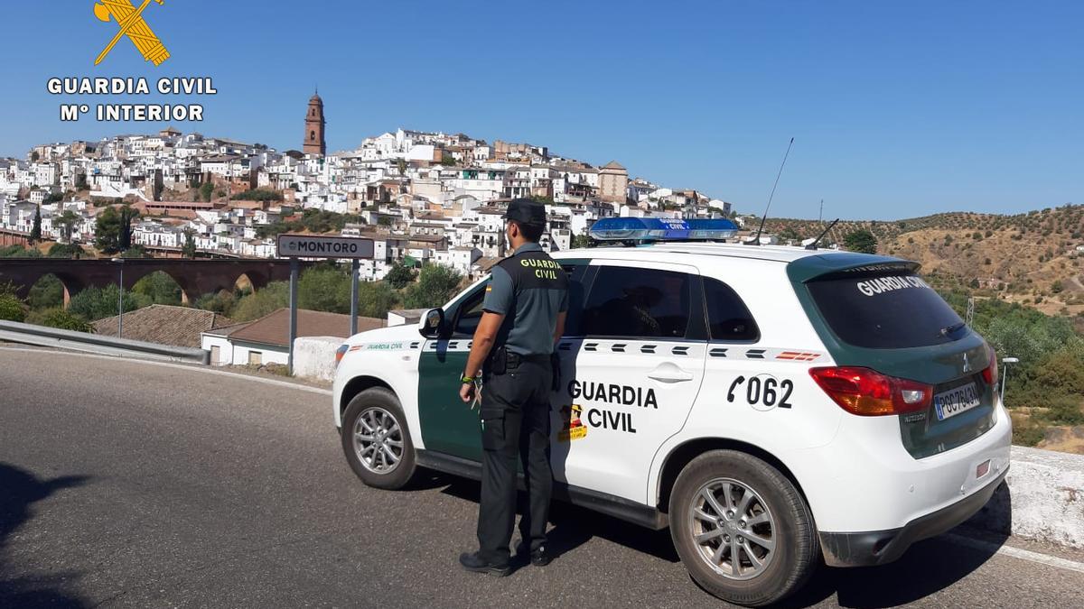
M 554 494 L 669 527 L 705 589 L 759 606 L 822 560 L 881 565 L 966 520 L 1008 470 L 1011 426 L 992 349 L 918 264 L 695 243 L 734 229 L 606 219 L 596 239 L 640 245 L 553 255 L 570 277 Z M 459 388 L 486 282 L 339 349 L 335 424 L 366 484 L 479 477 Z

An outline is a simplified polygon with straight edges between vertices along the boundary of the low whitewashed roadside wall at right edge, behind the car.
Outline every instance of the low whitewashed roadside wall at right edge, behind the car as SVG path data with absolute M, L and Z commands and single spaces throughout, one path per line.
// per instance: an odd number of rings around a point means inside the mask
M 1005 482 L 969 524 L 1084 548 L 1084 455 L 1012 446 Z

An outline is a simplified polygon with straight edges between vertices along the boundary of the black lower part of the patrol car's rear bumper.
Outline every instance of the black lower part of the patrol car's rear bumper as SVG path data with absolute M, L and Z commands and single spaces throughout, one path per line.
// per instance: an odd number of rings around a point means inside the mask
M 975 516 L 986 505 L 994 491 L 1005 480 L 1006 467 L 999 476 L 966 498 L 926 516 L 920 516 L 899 529 L 856 533 L 821 533 L 824 560 L 830 567 L 869 567 L 885 565 L 903 556 L 912 544 L 940 535 Z

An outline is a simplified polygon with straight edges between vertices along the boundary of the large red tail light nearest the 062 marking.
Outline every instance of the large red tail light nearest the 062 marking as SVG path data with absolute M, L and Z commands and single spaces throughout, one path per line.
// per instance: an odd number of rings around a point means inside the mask
M 810 368 L 810 376 L 844 411 L 862 416 L 921 412 L 933 387 L 859 366 Z

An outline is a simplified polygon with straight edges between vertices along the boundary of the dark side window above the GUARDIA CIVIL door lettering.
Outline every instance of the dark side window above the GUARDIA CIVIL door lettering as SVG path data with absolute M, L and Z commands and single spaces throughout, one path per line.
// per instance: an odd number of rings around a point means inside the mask
M 691 285 L 686 273 L 602 267 L 583 308 L 583 334 L 684 338 Z

